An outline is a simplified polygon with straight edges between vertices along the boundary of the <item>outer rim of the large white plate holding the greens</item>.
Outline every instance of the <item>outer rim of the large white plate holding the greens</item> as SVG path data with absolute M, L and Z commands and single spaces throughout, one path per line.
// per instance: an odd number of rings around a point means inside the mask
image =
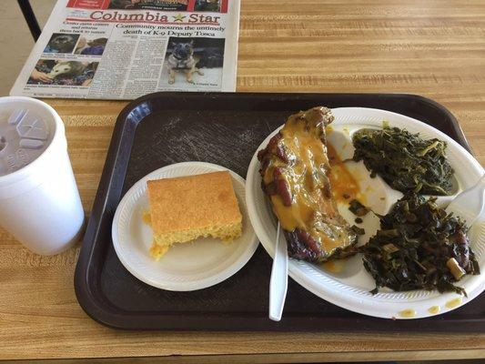
M 420 121 L 418 119 L 415 119 L 415 118 L 410 117 L 410 116 L 405 116 L 405 115 L 402 115 L 402 114 L 399 114 L 399 113 L 391 112 L 391 111 L 388 111 L 388 110 L 379 109 L 379 108 L 372 108 L 372 107 L 355 107 L 355 106 L 336 107 L 336 108 L 331 108 L 331 111 L 333 113 L 335 113 L 335 112 L 346 112 L 346 111 L 347 112 L 356 112 L 356 113 L 359 112 L 359 111 L 360 112 L 369 112 L 369 113 L 380 113 L 380 114 L 384 114 L 384 115 L 387 115 L 387 116 L 394 116 L 394 117 L 399 117 L 401 119 L 403 119 L 403 118 L 407 119 L 407 121 L 410 121 L 410 123 L 413 123 L 415 125 L 419 125 L 419 127 L 423 127 L 424 129 L 427 129 L 427 131 L 432 133 L 433 136 L 441 137 L 441 138 L 445 139 L 448 143 L 452 144 L 453 147 L 457 147 L 458 150 L 460 151 L 460 154 L 464 153 L 467 156 L 467 159 L 470 160 L 470 165 L 472 165 L 472 167 L 476 168 L 477 170 L 480 169 L 481 172 L 483 173 L 483 167 L 481 167 L 480 163 L 473 156 L 471 156 L 471 154 L 468 150 L 466 150 L 464 147 L 460 146 L 460 144 L 458 142 L 456 142 L 455 140 L 453 140 L 450 136 L 446 135 L 445 133 L 441 132 L 440 130 L 438 130 L 437 128 L 435 128 L 433 126 L 429 126 L 428 124 L 423 123 L 422 121 Z M 361 116 L 359 116 L 359 117 L 361 117 Z M 379 117 L 382 117 L 382 116 L 379 116 Z M 390 122 L 390 123 L 392 125 L 392 122 Z M 342 125 L 342 124 L 339 124 L 339 125 Z M 258 235 L 259 241 L 261 242 L 261 245 L 263 246 L 263 248 L 265 248 L 265 250 L 268 252 L 268 255 L 271 258 L 273 258 L 273 256 L 274 256 L 274 247 L 271 244 L 268 244 L 268 241 L 272 241 L 274 239 L 271 239 L 270 237 L 268 237 L 267 231 L 265 231 L 264 228 L 261 228 L 262 222 L 259 221 L 259 218 L 258 218 L 258 212 L 257 212 L 258 205 L 256 204 L 256 197 L 253 196 L 252 189 L 253 189 L 253 185 L 254 185 L 253 181 L 255 180 L 255 177 L 258 174 L 258 158 L 257 158 L 258 150 L 261 147 L 265 147 L 268 144 L 268 140 L 270 139 L 270 137 L 274 136 L 282 126 L 283 125 L 278 126 L 274 131 L 272 131 L 270 134 L 268 134 L 268 136 L 258 146 L 257 150 L 253 154 L 253 157 L 251 158 L 251 161 L 250 161 L 249 167 L 248 167 L 248 173 L 247 173 L 248 187 L 247 187 L 247 190 L 246 190 L 246 199 L 247 199 L 247 206 L 248 206 L 248 215 L 249 215 L 249 218 L 251 220 L 251 224 L 253 225 L 253 227 L 255 228 L 255 231 L 257 232 L 257 235 Z M 440 310 L 440 313 L 437 313 L 437 314 L 431 314 L 431 313 L 417 314 L 413 318 L 399 317 L 398 316 L 399 309 L 396 309 L 394 311 L 394 315 L 389 316 L 389 314 L 386 314 L 386 313 L 381 312 L 381 311 L 376 310 L 376 309 L 372 310 L 372 309 L 368 309 L 368 308 L 363 308 L 362 307 L 364 305 L 363 299 L 359 299 L 359 305 L 358 304 L 355 304 L 355 305 L 347 304 L 347 302 L 341 298 L 342 295 L 339 294 L 338 290 L 332 291 L 331 289 L 327 289 L 327 290 L 322 289 L 320 284 L 316 283 L 316 281 L 314 279 L 308 278 L 308 276 L 305 275 L 304 272 L 302 272 L 301 269 L 299 269 L 297 267 L 298 264 L 308 264 L 309 265 L 310 263 L 301 262 L 301 261 L 290 258 L 290 261 L 289 261 L 289 264 L 288 264 L 288 275 L 291 278 L 293 278 L 295 281 L 297 281 L 298 284 L 300 286 L 302 286 L 303 288 L 308 289 L 308 291 L 315 294 L 319 298 L 325 299 L 328 302 L 330 302 L 334 305 L 337 305 L 338 307 L 346 308 L 346 309 L 349 309 L 353 312 L 358 312 L 360 314 L 364 314 L 364 315 L 367 315 L 367 316 L 383 318 L 383 319 L 423 319 L 423 318 L 439 316 L 443 313 L 450 312 L 453 309 L 460 308 L 464 304 L 470 302 L 473 298 L 479 297 L 480 293 L 485 289 L 485 277 L 483 277 L 483 278 L 480 279 L 480 283 L 477 285 L 477 287 L 473 290 L 473 292 L 472 292 L 473 294 L 470 294 L 470 292 L 469 292 L 469 297 L 464 298 L 462 300 L 462 302 L 460 303 L 460 305 L 458 305 L 454 308 L 446 308 L 443 305 L 441 307 L 442 309 Z M 443 296 L 444 295 L 452 295 L 452 293 L 451 292 L 444 293 Z M 441 297 L 443 297 L 443 296 L 441 296 Z M 370 298 L 372 298 L 372 297 L 370 297 Z M 423 298 L 423 299 L 426 300 L 427 298 Z M 431 299 L 431 298 L 428 298 L 428 299 Z M 371 302 L 372 299 L 368 298 L 368 299 L 366 299 L 366 301 Z M 366 303 L 368 304 L 369 302 L 366 302 Z M 400 303 L 396 302 L 396 304 L 400 304 Z M 409 306 L 412 306 L 412 302 L 410 302 L 410 301 L 409 301 Z

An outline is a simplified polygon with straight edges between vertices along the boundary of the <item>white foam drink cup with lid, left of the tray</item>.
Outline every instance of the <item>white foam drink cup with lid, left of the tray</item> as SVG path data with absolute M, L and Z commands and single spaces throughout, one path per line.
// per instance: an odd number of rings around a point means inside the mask
M 1 116 L 4 116 L 4 120 Z M 39 156 L 33 154 L 30 157 L 30 150 L 23 149 L 22 144 L 15 152 L 16 155 L 7 155 L 10 150 L 0 149 L 3 167 L 11 168 L 10 173 L 0 174 L 0 226 L 5 227 L 26 248 L 37 254 L 60 253 L 76 243 L 85 221 L 67 155 L 64 123 L 54 108 L 40 100 L 17 96 L 0 97 L 0 140 L 5 141 L 5 136 L 1 135 L 2 123 L 7 123 L 8 117 L 18 119 L 10 122 L 9 130 L 12 131 L 15 123 L 18 123 L 16 129 L 19 135 L 24 133 L 19 136 L 19 140 L 25 137 L 30 145 L 45 143 L 46 147 L 43 147 L 45 150 L 42 152 L 37 150 L 41 153 Z M 23 117 L 29 117 L 35 122 L 39 120 L 46 126 L 48 136 L 45 136 L 44 141 L 39 142 L 35 140 L 37 136 L 25 134 L 30 130 L 29 127 L 35 128 L 35 123 L 30 123 L 32 126 L 22 126 L 24 129 L 21 130 Z M 13 130 L 15 132 L 15 128 Z M 5 143 L 8 143 L 7 138 Z M 13 141 L 11 146 L 14 143 L 16 146 L 18 141 Z M 15 161 L 11 162 L 14 157 Z M 15 166 L 17 161 L 19 162 Z

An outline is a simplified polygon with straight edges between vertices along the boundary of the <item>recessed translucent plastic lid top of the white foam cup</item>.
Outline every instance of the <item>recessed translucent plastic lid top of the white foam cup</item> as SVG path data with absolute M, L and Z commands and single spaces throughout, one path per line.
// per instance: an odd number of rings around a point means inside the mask
M 52 138 L 45 119 L 26 108 L 0 115 L 0 177 L 39 157 Z

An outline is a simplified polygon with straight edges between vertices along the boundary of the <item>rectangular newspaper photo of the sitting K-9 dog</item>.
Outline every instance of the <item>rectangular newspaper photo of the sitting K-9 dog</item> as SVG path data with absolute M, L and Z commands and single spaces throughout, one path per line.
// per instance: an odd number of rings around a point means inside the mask
M 160 80 L 168 89 L 215 89 L 221 86 L 224 38 L 170 37 Z M 183 80 L 183 81 L 182 81 Z

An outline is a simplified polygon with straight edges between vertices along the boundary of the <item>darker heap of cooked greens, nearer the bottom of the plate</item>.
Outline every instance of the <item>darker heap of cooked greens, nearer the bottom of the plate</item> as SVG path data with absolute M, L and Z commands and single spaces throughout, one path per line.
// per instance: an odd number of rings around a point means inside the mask
M 453 283 L 465 274 L 480 274 L 467 227 L 433 198 L 401 198 L 388 215 L 380 217 L 380 228 L 361 248 L 364 267 L 376 280 L 374 293 L 389 287 L 466 294 Z

